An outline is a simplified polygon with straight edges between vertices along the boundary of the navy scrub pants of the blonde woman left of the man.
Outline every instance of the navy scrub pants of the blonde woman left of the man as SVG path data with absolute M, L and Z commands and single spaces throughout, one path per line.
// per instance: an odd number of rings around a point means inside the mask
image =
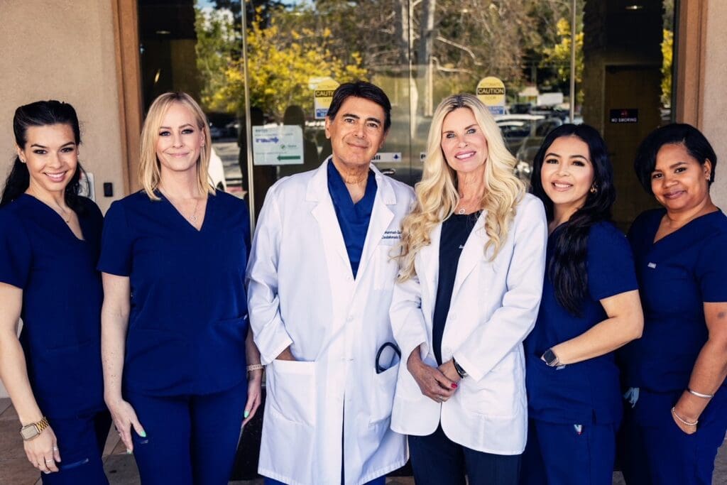
M 146 432 L 132 430 L 144 485 L 227 485 L 247 400 L 247 382 L 203 396 L 126 393 Z

